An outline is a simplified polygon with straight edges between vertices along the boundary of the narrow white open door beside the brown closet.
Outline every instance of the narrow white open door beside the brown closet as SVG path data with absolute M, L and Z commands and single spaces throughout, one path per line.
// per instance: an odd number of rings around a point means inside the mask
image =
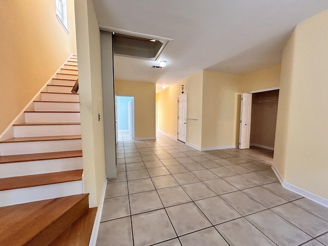
M 251 140 L 252 94 L 241 94 L 239 149 L 249 149 Z

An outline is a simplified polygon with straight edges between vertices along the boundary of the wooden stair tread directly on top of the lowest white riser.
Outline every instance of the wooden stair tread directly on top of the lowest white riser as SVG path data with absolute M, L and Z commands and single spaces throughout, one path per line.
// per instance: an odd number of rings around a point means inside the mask
M 0 191 L 77 181 L 82 179 L 82 173 L 83 169 L 79 169 L 64 172 L 0 178 Z

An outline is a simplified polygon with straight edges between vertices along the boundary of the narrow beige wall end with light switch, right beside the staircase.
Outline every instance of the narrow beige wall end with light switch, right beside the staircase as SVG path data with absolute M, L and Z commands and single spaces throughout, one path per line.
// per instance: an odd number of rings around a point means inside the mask
M 100 31 L 92 0 L 75 1 L 85 193 L 98 207 L 106 176 Z

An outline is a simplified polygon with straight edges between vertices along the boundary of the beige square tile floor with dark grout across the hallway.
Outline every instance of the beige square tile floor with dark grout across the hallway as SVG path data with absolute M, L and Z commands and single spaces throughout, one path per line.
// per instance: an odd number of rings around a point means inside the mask
M 328 209 L 280 185 L 273 152 L 120 135 L 97 245 L 328 245 Z

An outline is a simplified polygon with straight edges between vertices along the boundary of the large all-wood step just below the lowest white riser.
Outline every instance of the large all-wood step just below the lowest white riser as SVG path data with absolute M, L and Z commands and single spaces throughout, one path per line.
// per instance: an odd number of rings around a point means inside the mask
M 0 245 L 49 245 L 87 211 L 88 194 L 0 208 Z

